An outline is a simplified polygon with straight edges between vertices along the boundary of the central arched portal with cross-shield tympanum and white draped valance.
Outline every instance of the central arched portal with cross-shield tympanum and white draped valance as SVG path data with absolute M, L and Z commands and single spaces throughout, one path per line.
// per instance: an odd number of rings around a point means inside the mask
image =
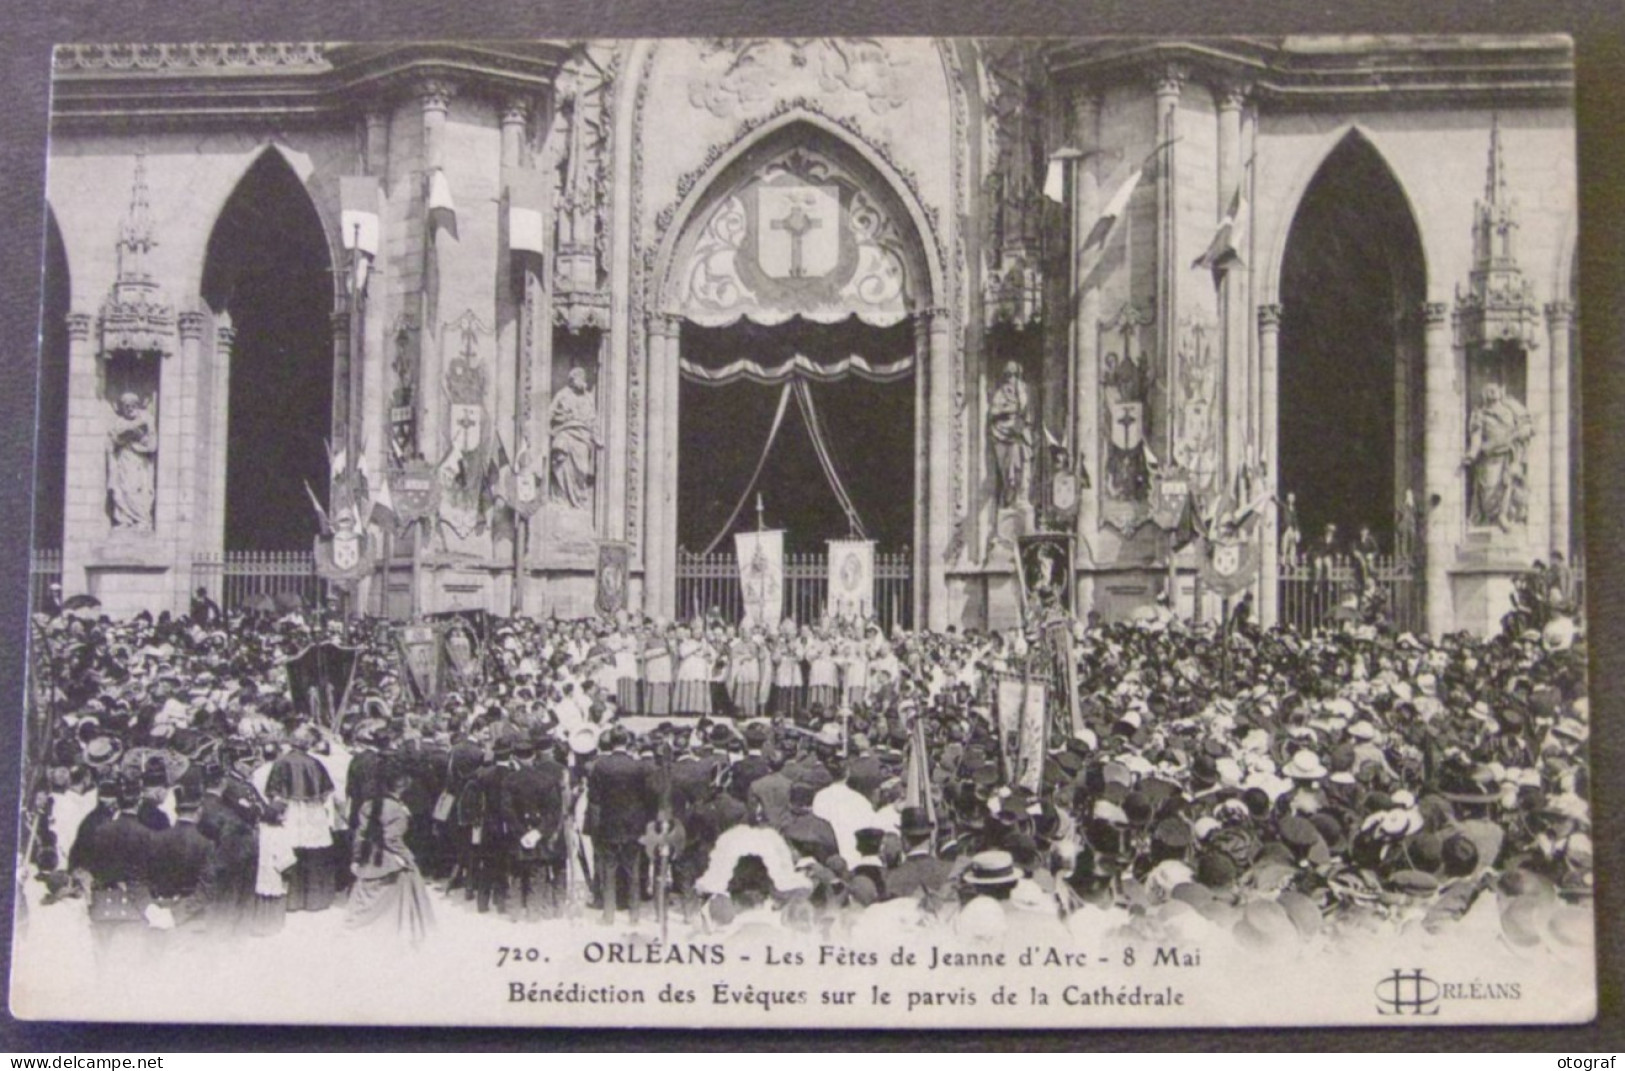
M 790 122 L 702 189 L 663 278 L 678 330 L 652 379 L 668 377 L 674 427 L 652 486 L 665 465 L 674 501 L 650 528 L 670 525 L 676 613 L 726 613 L 731 536 L 760 502 L 785 533 L 788 616 L 824 613 L 827 541 L 866 538 L 876 614 L 912 622 L 934 276 L 899 189 L 840 135 Z

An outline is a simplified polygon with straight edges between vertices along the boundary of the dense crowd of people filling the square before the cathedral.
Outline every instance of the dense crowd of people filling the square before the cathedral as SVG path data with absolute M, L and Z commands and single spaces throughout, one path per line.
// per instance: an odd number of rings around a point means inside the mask
M 1188 920 L 1251 946 L 1474 917 L 1575 943 L 1586 661 L 1545 616 L 1490 639 L 1090 619 L 1071 666 L 1019 631 L 510 618 L 424 696 L 385 621 L 39 614 L 24 873 L 106 956 L 323 910 L 403 943 L 447 910 L 965 939 Z M 325 640 L 359 660 L 323 722 L 286 661 Z M 1076 687 L 1076 710 L 1050 689 L 1042 769 L 998 709 L 1016 678 Z

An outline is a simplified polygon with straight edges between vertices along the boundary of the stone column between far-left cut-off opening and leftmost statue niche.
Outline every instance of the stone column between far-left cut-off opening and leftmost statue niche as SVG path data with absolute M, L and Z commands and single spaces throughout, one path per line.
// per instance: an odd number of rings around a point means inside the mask
M 96 319 L 68 314 L 68 434 L 62 494 L 62 593 L 81 595 L 89 544 L 107 535 L 106 403 L 91 338 Z

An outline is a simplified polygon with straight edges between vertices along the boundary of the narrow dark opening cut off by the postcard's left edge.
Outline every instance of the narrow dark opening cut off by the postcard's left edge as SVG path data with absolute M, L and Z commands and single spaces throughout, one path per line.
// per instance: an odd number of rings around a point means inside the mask
M 46 276 L 39 322 L 39 408 L 34 429 L 34 546 L 62 546 L 68 479 L 68 252 L 46 213 Z

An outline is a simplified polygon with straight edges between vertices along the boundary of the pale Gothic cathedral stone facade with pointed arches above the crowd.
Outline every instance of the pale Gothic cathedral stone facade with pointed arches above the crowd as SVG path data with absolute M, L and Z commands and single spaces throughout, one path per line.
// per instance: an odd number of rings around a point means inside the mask
M 1012 622 L 1032 531 L 1079 611 L 1217 613 L 1183 492 L 1256 496 L 1264 621 L 1370 527 L 1417 627 L 1492 631 L 1580 535 L 1571 83 L 1549 37 L 62 47 L 63 590 L 184 609 L 320 510 L 354 609 L 590 613 L 609 544 L 686 616 L 739 494 L 696 473 L 762 447 L 692 413 L 795 419 L 800 362 L 915 624 Z

